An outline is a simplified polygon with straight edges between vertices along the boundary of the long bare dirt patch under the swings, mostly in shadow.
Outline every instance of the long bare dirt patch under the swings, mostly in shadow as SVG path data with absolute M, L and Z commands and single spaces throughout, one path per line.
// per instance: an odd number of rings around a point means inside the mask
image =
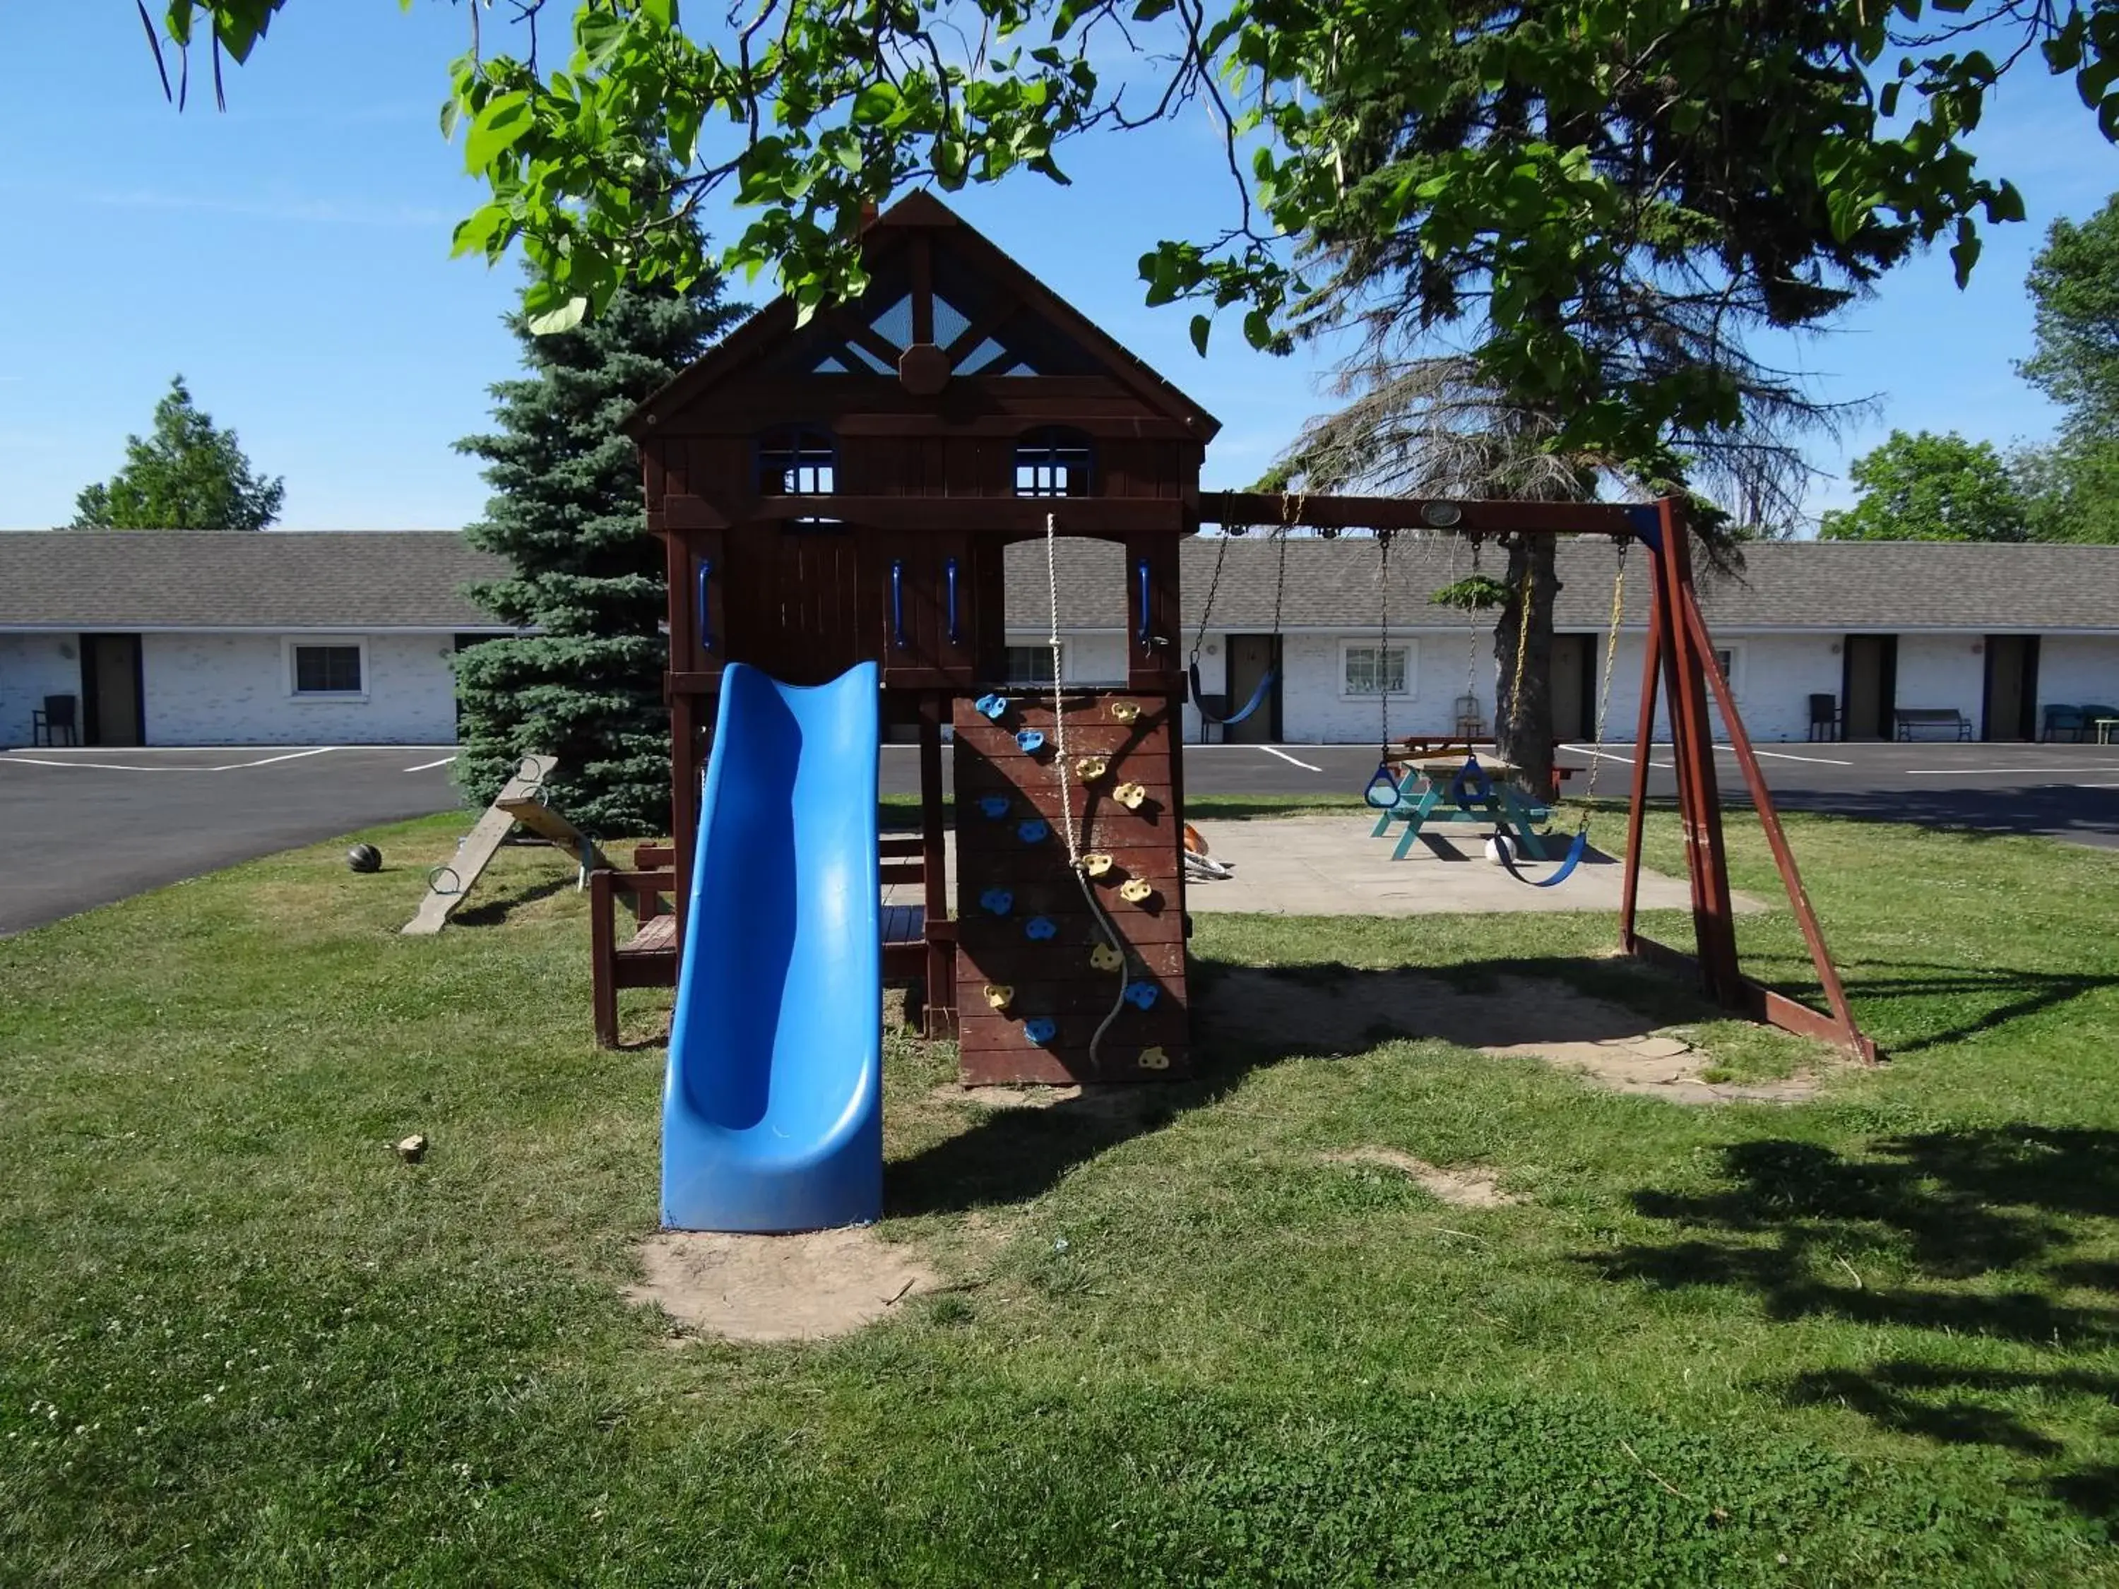
M 1714 1057 L 1644 1015 L 1564 983 L 1502 977 L 1464 994 L 1418 970 L 1223 972 L 1195 1006 L 1201 1042 L 1269 1045 L 1282 1053 L 1363 1053 L 1390 1038 L 1441 1038 L 1492 1055 L 1530 1055 L 1619 1093 L 1674 1104 L 1740 1100 L 1799 1104 L 1818 1078 L 1714 1083 Z

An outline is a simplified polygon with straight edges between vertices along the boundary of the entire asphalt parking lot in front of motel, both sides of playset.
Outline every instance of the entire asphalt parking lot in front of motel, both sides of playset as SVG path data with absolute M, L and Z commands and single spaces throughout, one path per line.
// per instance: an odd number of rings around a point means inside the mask
M 1587 769 L 1593 748 L 1562 763 Z M 1606 746 L 1600 797 L 1623 797 L 1634 746 Z M 1668 748 L 1649 790 L 1674 794 Z M 884 748 L 884 792 L 920 788 L 918 752 Z M 1761 746 L 1791 811 L 2026 833 L 2119 850 L 2119 746 Z M 239 860 L 458 805 L 447 746 L 0 752 L 0 936 Z M 1735 756 L 1723 790 L 1744 803 Z M 1343 794 L 1375 771 L 1369 746 L 1187 746 L 1191 794 Z M 1570 782 L 1585 788 L 1585 778 Z M 466 814 L 468 822 L 468 814 Z

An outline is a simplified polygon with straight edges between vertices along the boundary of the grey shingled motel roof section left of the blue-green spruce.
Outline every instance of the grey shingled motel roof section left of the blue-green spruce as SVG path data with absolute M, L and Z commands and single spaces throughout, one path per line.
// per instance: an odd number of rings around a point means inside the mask
M 441 530 L 0 534 L 0 629 L 502 629 L 509 564 Z

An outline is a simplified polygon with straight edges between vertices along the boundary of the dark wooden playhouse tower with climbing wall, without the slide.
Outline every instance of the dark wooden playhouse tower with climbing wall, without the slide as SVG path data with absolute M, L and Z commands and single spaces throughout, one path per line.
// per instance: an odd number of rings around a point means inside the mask
M 886 979 L 924 985 L 966 1083 L 1182 1074 L 1178 542 L 1218 424 L 924 193 L 862 256 L 860 299 L 809 324 L 771 303 L 627 422 L 667 547 L 676 920 L 720 669 L 875 661 L 922 786 L 920 837 L 884 841 L 884 879 L 924 883 Z M 1123 686 L 1009 678 L 1002 555 L 1043 566 L 1049 534 L 1123 547 Z

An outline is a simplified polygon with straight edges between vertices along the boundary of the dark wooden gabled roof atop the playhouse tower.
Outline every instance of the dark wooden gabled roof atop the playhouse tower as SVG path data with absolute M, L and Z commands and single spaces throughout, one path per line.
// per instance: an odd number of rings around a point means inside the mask
M 871 326 L 877 311 L 888 318 L 894 307 L 903 307 L 903 261 L 918 233 L 930 239 L 934 256 L 937 343 L 951 341 L 949 326 L 943 324 L 943 309 L 949 307 L 945 303 L 949 292 L 945 275 L 956 275 L 958 282 L 971 286 L 964 297 L 979 294 L 987 305 L 1015 305 L 1007 326 L 990 326 L 987 339 L 973 347 L 958 367 L 958 375 L 1007 375 L 1026 364 L 1032 364 L 1032 375 L 1106 375 L 1155 413 L 1185 424 L 1201 443 L 1221 430 L 1221 419 L 968 227 L 949 206 L 926 191 L 915 191 L 865 227 L 862 250 L 873 280 L 860 299 L 824 311 L 809 324 L 797 324 L 795 301 L 780 294 L 634 409 L 625 417 L 627 434 L 646 439 L 655 434 L 653 422 L 680 413 L 718 386 L 744 379 L 771 379 L 790 373 L 894 375 L 877 358 L 879 347 L 873 339 L 865 347 L 858 341 L 860 331 L 854 331 L 854 337 L 841 335 L 841 331 L 854 322 Z M 966 328 L 964 335 L 968 335 L 968 326 L 985 324 L 985 314 L 973 305 L 951 314 L 956 322 L 962 322 L 960 328 Z M 882 324 L 873 322 L 873 326 Z M 1036 360 L 1030 356 L 1013 358 L 996 341 L 1002 335 L 1011 345 L 1034 345 L 1043 354 Z M 909 335 L 901 341 L 909 341 Z M 795 369 L 790 369 L 790 354 Z M 1051 367 L 1036 369 L 1036 362 L 1047 362 L 1045 356 L 1049 356 Z

